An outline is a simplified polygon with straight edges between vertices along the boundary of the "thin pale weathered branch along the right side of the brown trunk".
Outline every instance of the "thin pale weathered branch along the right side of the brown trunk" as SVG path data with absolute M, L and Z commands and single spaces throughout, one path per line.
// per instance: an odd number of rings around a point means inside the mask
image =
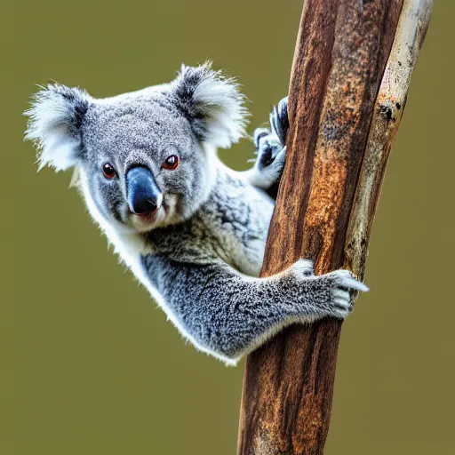
M 403 116 L 412 70 L 427 34 L 432 7 L 433 0 L 404 0 L 376 99 L 345 244 L 346 267 L 361 279 L 388 156 Z

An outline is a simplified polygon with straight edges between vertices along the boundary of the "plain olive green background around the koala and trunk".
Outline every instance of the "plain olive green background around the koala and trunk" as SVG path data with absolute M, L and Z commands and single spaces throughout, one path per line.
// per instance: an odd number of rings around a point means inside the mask
M 330 454 L 455 453 L 453 14 L 435 2 L 339 349 Z M 287 92 L 302 0 L 0 6 L 0 453 L 234 454 L 243 363 L 186 346 L 117 264 L 70 172 L 36 174 L 20 116 L 53 79 L 104 97 L 207 57 L 252 128 Z M 223 158 L 244 168 L 251 144 Z

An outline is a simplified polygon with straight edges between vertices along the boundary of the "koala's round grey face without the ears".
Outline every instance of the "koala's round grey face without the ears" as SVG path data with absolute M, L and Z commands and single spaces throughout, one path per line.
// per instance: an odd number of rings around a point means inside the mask
M 211 152 L 156 93 L 92 103 L 81 133 L 81 176 L 109 222 L 147 231 L 188 219 L 212 186 Z

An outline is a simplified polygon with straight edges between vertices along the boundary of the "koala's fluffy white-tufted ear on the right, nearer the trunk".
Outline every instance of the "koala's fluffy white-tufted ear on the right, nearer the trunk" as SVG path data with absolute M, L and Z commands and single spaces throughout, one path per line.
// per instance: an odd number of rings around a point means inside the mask
M 182 65 L 171 87 L 199 140 L 228 148 L 246 135 L 246 99 L 234 79 L 212 70 L 212 62 L 197 68 Z

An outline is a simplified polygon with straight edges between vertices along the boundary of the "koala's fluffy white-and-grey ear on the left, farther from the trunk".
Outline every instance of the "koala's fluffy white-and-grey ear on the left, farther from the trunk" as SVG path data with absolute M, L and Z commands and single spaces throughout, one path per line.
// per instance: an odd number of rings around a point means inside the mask
M 38 170 L 45 165 L 57 172 L 76 164 L 81 152 L 81 124 L 91 100 L 78 88 L 49 84 L 31 101 L 26 140 L 33 140 L 38 151 Z

